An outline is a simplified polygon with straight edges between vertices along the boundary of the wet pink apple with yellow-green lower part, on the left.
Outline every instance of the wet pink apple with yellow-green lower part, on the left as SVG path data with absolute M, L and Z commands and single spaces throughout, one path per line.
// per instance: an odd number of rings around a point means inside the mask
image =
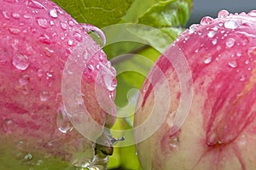
M 84 25 L 49 0 L 0 3 L 0 169 L 65 169 L 91 162 L 96 139 L 115 120 L 115 89 L 97 78 L 103 67 L 113 71 L 107 55 Z M 102 127 L 94 141 L 73 127 L 61 96 L 66 60 L 78 45 L 88 54 L 79 102 Z M 96 87 L 112 112 L 99 105 Z M 110 134 L 104 135 L 108 140 Z

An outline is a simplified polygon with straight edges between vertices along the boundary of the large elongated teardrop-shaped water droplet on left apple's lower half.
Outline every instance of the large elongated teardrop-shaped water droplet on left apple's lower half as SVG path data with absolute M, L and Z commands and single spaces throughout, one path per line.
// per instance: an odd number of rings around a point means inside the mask
M 73 126 L 67 116 L 67 111 L 63 109 L 58 111 L 56 121 L 58 129 L 61 131 L 61 133 L 67 133 L 68 131 L 71 131 L 73 129 Z

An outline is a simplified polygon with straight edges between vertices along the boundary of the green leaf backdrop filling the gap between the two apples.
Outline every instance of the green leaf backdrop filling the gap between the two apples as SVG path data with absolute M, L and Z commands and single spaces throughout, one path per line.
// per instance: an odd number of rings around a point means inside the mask
M 133 113 L 135 105 L 132 99 L 137 93 L 132 89 L 142 87 L 148 71 L 160 56 L 160 51 L 163 51 L 183 31 L 183 26 L 189 20 L 192 9 L 192 0 L 53 1 L 71 14 L 75 20 L 97 26 L 103 31 L 108 26 L 122 23 L 136 23 L 155 28 L 147 30 L 134 27 L 129 30 L 131 36 L 140 37 L 147 43 L 123 41 L 104 47 L 108 59 L 111 59 L 113 66 L 119 72 L 115 100 L 118 116 L 124 115 L 127 111 Z M 160 31 L 166 36 L 161 37 Z M 123 30 L 115 30 L 106 35 L 107 41 L 123 35 Z M 125 69 L 127 71 L 121 71 Z M 132 116 L 118 118 L 113 129 L 131 128 L 132 120 Z M 113 136 L 119 138 L 114 133 Z M 132 135 L 129 138 L 132 139 Z M 134 145 L 114 148 L 108 168 L 117 167 L 129 170 L 140 169 Z

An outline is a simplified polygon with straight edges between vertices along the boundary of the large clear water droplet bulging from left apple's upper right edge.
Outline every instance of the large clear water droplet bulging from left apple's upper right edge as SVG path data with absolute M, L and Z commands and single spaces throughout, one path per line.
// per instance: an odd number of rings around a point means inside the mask
M 84 27 L 85 32 L 87 32 L 88 34 L 91 33 L 90 37 L 92 37 L 98 44 L 100 44 L 101 48 L 106 45 L 106 37 L 101 29 L 90 24 L 81 24 L 81 26 Z

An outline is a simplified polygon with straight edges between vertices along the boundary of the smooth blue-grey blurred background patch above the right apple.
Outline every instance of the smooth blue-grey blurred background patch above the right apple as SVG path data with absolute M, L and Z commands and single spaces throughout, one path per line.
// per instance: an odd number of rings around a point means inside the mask
M 194 8 L 187 26 L 199 23 L 206 15 L 215 18 L 221 9 L 226 9 L 230 13 L 247 13 L 250 10 L 256 10 L 256 0 L 194 0 L 193 2 Z

